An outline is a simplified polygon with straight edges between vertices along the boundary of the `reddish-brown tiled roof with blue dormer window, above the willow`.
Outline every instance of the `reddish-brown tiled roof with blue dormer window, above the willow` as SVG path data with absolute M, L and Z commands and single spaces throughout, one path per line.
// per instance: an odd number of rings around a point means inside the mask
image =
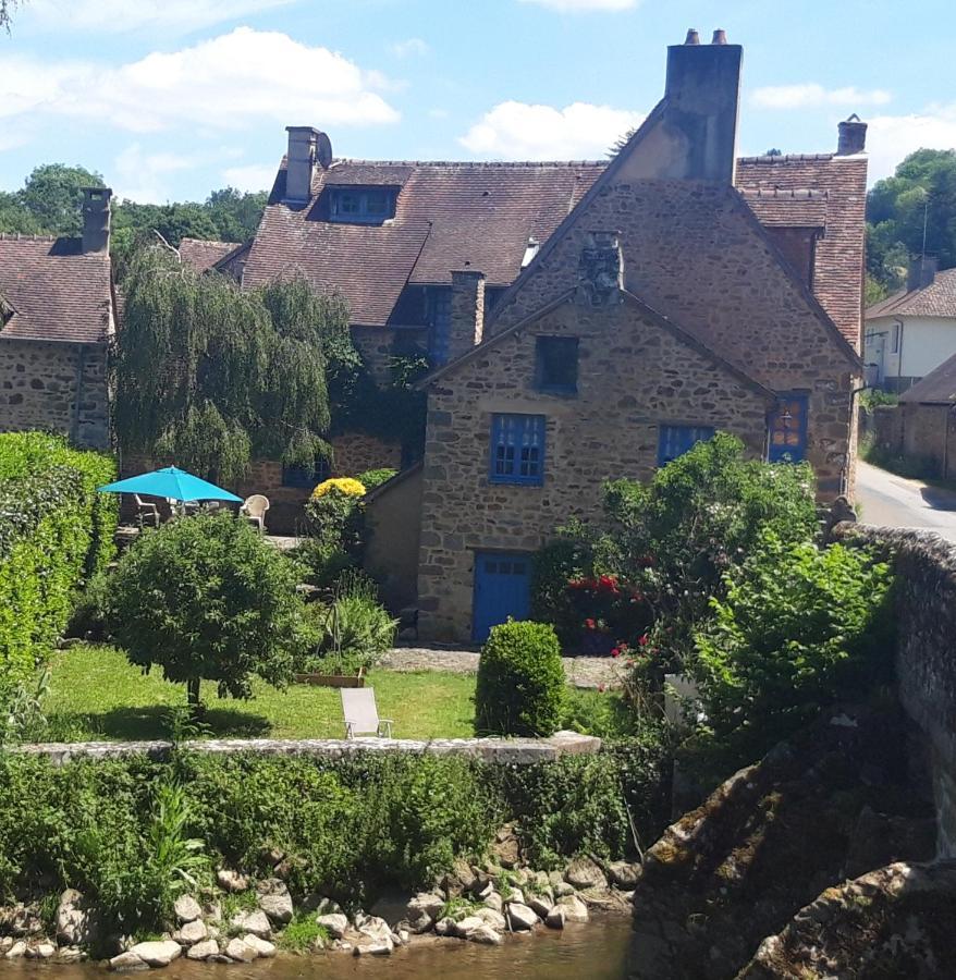
M 316 169 L 311 199 L 299 208 L 282 204 L 283 160 L 243 283 L 301 271 L 339 289 L 354 324 L 384 326 L 407 282 L 451 283 L 453 269 L 471 268 L 489 285 L 511 283 L 528 238 L 543 242 L 604 166 L 340 160 Z M 376 184 L 402 188 L 393 220 L 323 220 L 324 187 Z

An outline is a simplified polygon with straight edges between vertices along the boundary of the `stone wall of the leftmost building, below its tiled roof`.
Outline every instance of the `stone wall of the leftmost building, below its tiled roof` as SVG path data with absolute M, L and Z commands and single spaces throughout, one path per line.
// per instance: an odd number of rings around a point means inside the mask
M 0 341 L 0 431 L 52 429 L 110 446 L 107 346 Z

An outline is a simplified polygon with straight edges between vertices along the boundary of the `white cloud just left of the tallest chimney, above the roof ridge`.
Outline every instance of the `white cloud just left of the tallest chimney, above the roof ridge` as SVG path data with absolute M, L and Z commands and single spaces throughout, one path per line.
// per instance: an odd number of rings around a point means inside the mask
M 574 102 L 564 109 L 501 102 L 458 140 L 485 157 L 560 160 L 602 157 L 644 115 L 610 106 Z

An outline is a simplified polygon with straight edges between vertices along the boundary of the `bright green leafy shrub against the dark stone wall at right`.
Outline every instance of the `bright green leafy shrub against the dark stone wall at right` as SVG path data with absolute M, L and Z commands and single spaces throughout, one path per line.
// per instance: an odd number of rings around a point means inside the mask
M 821 707 L 887 682 L 890 586 L 890 567 L 863 550 L 785 543 L 764 530 L 695 637 L 718 745 L 752 761 Z

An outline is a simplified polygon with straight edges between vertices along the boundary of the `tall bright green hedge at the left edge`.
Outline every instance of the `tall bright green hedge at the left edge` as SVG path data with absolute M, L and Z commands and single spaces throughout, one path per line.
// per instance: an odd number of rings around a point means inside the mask
M 77 587 L 113 553 L 111 458 L 42 432 L 0 434 L 0 708 L 62 634 Z

